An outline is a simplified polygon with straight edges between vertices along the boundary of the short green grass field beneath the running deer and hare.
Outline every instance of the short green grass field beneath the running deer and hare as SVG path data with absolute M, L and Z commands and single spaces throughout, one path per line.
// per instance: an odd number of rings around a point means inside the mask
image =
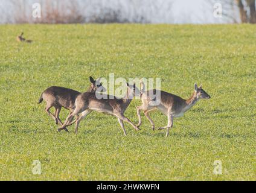
M 33 39 L 32 44 L 15 38 Z M 256 180 L 256 25 L 1 25 L 0 180 Z M 170 136 L 91 113 L 57 132 L 37 100 L 49 86 L 81 92 L 89 75 L 159 77 L 188 98 L 202 83 L 211 100 L 174 119 Z M 138 122 L 133 100 L 126 116 Z M 53 110 L 53 109 L 52 109 Z M 68 115 L 62 110 L 60 118 Z M 151 113 L 156 128 L 167 117 Z M 74 125 L 69 127 L 74 131 Z M 42 174 L 32 173 L 40 160 Z M 213 173 L 214 160 L 222 174 Z

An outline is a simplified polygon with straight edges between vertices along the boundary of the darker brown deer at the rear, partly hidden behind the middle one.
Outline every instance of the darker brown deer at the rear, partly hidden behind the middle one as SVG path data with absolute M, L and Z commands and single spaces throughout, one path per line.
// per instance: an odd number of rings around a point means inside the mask
M 90 81 L 91 85 L 87 92 L 96 92 L 96 90 L 102 92 L 106 91 L 106 88 L 100 83 L 100 78 L 98 78 L 98 80 L 94 80 L 94 78 L 90 77 Z M 42 92 L 38 103 L 42 103 L 43 100 L 46 101 L 45 112 L 54 119 L 57 125 L 62 125 L 62 121 L 59 118 L 60 110 L 64 107 L 65 109 L 68 109 L 69 114 L 71 114 L 75 109 L 75 99 L 80 94 L 81 92 L 78 92 L 77 90 L 51 86 Z M 54 114 L 50 112 L 51 107 L 55 108 Z M 68 131 L 66 127 L 63 129 Z

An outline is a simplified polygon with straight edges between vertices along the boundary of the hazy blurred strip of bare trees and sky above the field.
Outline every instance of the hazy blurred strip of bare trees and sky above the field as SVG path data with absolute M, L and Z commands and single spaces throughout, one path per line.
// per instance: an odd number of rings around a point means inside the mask
M 180 0 L 0 0 L 0 24 L 39 23 L 173 23 L 176 18 L 190 21 L 193 13 L 180 14 L 174 18 L 173 2 Z M 198 20 L 207 21 L 216 2 L 222 4 L 221 23 L 256 24 L 256 0 L 211 0 L 203 1 Z M 185 2 L 185 1 L 184 1 Z M 210 2 L 210 3 L 209 3 Z M 32 5 L 42 5 L 42 17 L 33 18 Z M 185 5 L 184 5 L 185 9 Z M 203 16 L 203 13 L 209 13 Z M 212 16 L 213 17 L 213 16 Z M 226 19 L 226 20 L 225 20 Z M 197 23 L 196 21 L 192 21 Z

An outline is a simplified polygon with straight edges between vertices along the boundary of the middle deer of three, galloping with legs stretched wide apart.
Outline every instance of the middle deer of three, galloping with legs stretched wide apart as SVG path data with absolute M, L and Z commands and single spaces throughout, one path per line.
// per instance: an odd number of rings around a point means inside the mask
M 82 119 L 84 119 L 89 113 L 93 110 L 106 113 L 107 115 L 116 116 L 118 122 L 123 129 L 124 136 L 126 136 L 126 130 L 124 128 L 123 121 L 128 122 L 132 125 L 135 130 L 139 130 L 135 124 L 133 124 L 126 116 L 124 116 L 124 112 L 126 111 L 127 107 L 131 103 L 134 96 L 139 96 L 139 89 L 135 86 L 135 84 L 130 85 L 126 83 L 127 92 L 124 98 L 117 98 L 116 96 L 104 95 L 102 98 L 97 98 L 95 93 L 92 92 L 85 92 L 77 96 L 75 100 L 75 110 L 71 113 L 71 115 L 66 118 L 65 123 L 60 130 L 66 126 L 72 125 L 75 122 L 75 134 L 78 132 L 78 125 Z M 80 116 L 75 119 L 75 121 L 71 122 L 75 115 L 81 113 Z

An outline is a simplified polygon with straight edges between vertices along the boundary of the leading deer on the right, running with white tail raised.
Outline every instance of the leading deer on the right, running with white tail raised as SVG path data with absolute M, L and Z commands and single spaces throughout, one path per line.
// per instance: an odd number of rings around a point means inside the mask
M 194 104 L 197 103 L 200 99 L 210 99 L 211 96 L 208 95 L 208 93 L 205 92 L 205 90 L 202 89 L 201 86 L 197 86 L 197 84 L 194 84 L 194 92 L 192 96 L 185 100 L 179 96 L 173 95 L 168 92 L 164 92 L 162 90 L 158 90 L 159 95 L 156 96 L 156 98 L 150 97 L 149 93 L 156 93 L 156 90 L 149 90 L 145 91 L 145 84 L 141 80 L 141 101 L 142 105 L 136 107 L 137 115 L 139 119 L 139 123 L 137 127 L 141 125 L 141 110 L 144 112 L 144 115 L 149 120 L 150 124 L 152 125 L 152 129 L 155 130 L 155 124 L 153 120 L 149 116 L 149 112 L 153 110 L 160 110 L 164 115 L 168 117 L 168 124 L 165 127 L 159 127 L 158 130 L 167 129 L 167 132 L 165 134 L 165 137 L 168 136 L 169 130 L 171 127 L 173 127 L 173 118 L 177 118 L 180 116 L 183 116 L 187 110 L 191 109 L 191 107 L 194 106 Z M 154 106 L 155 101 L 159 100 L 159 103 Z

